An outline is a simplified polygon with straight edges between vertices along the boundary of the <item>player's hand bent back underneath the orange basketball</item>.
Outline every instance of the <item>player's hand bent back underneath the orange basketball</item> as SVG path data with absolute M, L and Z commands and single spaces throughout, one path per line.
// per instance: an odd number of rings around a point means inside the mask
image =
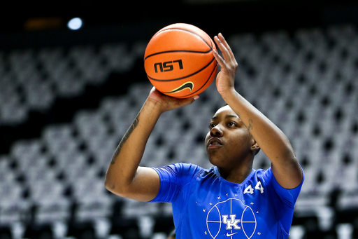
M 161 113 L 169 111 L 171 109 L 177 109 L 183 107 L 187 104 L 192 104 L 196 99 L 199 98 L 199 95 L 194 95 L 193 97 L 178 99 L 175 97 L 170 97 L 160 93 L 154 86 L 150 90 L 147 101 L 155 104 L 155 107 L 158 107 Z

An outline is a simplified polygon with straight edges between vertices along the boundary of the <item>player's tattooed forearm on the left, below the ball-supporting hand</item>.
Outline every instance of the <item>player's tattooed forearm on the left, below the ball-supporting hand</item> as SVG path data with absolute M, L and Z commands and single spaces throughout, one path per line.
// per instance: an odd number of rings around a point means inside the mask
M 106 173 L 105 185 L 108 190 L 125 190 L 131 184 L 141 163 L 145 144 L 160 114 L 155 103 L 145 102 L 115 149 Z

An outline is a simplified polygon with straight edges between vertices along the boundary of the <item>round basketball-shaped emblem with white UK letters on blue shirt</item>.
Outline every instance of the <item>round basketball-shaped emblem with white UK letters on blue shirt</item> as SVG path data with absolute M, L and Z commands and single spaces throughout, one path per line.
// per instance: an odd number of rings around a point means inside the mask
M 211 238 L 252 238 L 257 227 L 255 213 L 242 200 L 229 198 L 208 211 L 206 227 Z

